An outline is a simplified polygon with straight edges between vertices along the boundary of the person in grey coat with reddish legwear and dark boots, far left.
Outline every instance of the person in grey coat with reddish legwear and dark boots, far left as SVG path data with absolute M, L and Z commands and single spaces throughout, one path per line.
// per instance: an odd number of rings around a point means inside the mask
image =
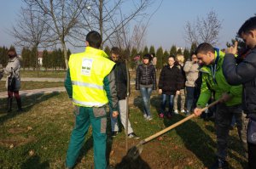
M 17 56 L 15 48 L 10 48 L 8 51 L 9 62 L 4 69 L 4 73 L 7 75 L 5 87 L 8 90 L 8 112 L 12 110 L 13 96 L 17 101 L 18 111 L 21 109 L 20 99 L 20 58 Z

